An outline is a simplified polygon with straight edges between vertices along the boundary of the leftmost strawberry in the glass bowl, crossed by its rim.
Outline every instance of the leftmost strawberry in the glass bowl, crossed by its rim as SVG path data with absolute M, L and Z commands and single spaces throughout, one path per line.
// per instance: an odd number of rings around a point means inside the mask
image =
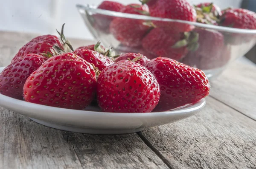
M 116 11 L 116 12 L 119 12 L 124 7 L 125 6 L 121 3 L 108 1 L 108 0 L 103 1 L 98 6 L 99 9 L 105 9 L 108 11 Z M 95 14 L 93 15 L 93 18 L 95 20 L 96 28 L 99 28 L 101 31 L 104 31 L 105 33 L 109 33 L 109 25 L 111 21 L 114 19 L 114 17 L 105 16 L 102 14 Z

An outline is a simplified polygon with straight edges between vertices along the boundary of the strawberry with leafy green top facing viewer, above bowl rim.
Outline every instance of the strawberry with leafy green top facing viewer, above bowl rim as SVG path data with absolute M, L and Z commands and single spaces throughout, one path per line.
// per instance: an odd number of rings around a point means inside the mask
M 218 25 L 221 8 L 213 3 L 200 3 L 196 6 L 197 22 Z

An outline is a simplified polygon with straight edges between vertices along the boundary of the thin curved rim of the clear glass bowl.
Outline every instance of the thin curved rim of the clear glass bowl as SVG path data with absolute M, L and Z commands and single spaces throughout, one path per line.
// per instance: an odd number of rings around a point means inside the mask
M 123 17 L 123 18 L 138 19 L 138 20 L 157 20 L 157 21 L 164 21 L 164 22 L 178 22 L 178 23 L 186 23 L 189 25 L 194 25 L 194 26 L 200 27 L 200 28 L 214 29 L 217 31 L 224 31 L 224 32 L 228 32 L 228 33 L 256 34 L 256 30 L 252 30 L 252 29 L 228 28 L 228 27 L 223 27 L 223 26 L 207 25 L 207 24 L 203 24 L 203 23 L 195 23 L 195 22 L 189 22 L 189 21 L 184 21 L 184 20 L 173 20 L 173 19 L 168 19 L 168 18 L 150 17 L 150 16 L 145 16 L 145 15 L 126 14 L 126 13 L 122 13 L 122 12 L 97 9 L 88 4 L 87 4 L 87 6 L 77 4 L 76 7 L 79 9 L 79 12 L 81 14 L 85 14 L 85 11 L 91 11 L 93 13 L 103 14 L 103 15 L 112 16 L 112 17 Z

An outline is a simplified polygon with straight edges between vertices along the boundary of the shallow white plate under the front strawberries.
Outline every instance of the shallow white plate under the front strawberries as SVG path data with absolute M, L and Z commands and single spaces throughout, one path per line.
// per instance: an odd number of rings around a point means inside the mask
M 3 68 L 0 68 L 0 72 Z M 179 110 L 157 113 L 104 113 L 98 107 L 71 110 L 49 107 L 13 99 L 0 94 L 0 106 L 48 127 L 89 134 L 125 134 L 172 123 L 195 115 L 206 104 L 205 99 Z

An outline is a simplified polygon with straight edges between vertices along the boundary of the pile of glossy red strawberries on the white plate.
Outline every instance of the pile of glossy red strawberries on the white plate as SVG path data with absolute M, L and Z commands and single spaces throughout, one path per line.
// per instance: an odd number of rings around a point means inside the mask
M 35 37 L 0 74 L 0 93 L 53 107 L 147 113 L 193 104 L 209 94 L 204 72 L 173 59 L 138 53 L 113 56 L 96 45 L 73 50 L 61 30 Z M 112 53 L 111 53 L 112 52 Z

